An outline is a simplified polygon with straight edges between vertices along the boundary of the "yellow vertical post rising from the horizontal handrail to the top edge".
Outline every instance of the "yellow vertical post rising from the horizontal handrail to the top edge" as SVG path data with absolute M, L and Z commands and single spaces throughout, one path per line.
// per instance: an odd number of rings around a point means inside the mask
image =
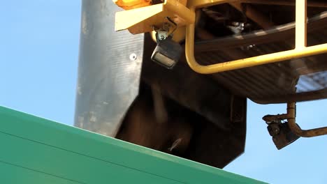
M 307 46 L 307 0 L 296 0 L 296 49 Z

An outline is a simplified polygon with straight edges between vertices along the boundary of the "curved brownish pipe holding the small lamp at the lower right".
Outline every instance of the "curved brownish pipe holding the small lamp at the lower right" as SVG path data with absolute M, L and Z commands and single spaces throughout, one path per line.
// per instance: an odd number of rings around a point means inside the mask
M 287 103 L 287 114 L 289 114 L 289 117 L 287 118 L 287 121 L 289 123 L 289 128 L 291 131 L 300 136 L 300 137 L 316 137 L 320 135 L 327 135 L 327 127 L 322 128 L 314 128 L 310 130 L 302 130 L 297 124 L 296 124 L 296 103 L 290 102 Z

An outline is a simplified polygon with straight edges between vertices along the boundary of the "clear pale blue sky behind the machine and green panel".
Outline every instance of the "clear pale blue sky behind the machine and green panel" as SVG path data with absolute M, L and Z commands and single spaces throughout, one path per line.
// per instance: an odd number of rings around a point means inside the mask
M 80 1 L 3 1 L 0 23 L 0 105 L 72 125 Z M 298 103 L 297 123 L 327 125 L 326 104 Z M 327 136 L 275 148 L 261 118 L 285 111 L 249 101 L 245 153 L 225 169 L 269 183 L 327 183 Z

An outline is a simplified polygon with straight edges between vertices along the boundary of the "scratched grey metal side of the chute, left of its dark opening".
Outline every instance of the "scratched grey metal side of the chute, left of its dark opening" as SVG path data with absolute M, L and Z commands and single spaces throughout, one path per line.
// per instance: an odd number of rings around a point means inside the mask
M 144 35 L 115 32 L 111 0 L 82 1 L 75 126 L 115 137 L 138 95 Z

